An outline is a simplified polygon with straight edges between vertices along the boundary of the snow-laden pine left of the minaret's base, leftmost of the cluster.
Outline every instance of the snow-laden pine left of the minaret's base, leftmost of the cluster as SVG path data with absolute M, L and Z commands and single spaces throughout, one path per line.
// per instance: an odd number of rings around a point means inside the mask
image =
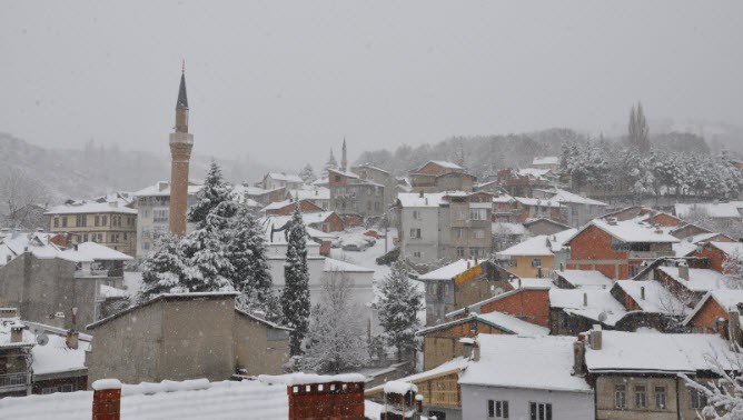
M 166 233 L 158 238 L 155 252 L 142 262 L 142 289 L 139 301 L 168 293 L 180 286 L 185 271 L 184 254 L 178 237 Z

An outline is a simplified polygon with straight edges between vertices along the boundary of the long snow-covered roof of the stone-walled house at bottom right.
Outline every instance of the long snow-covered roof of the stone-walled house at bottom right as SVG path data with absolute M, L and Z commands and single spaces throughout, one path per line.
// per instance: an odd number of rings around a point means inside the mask
M 586 346 L 588 371 L 680 373 L 710 370 L 707 357 L 735 368 L 736 354 L 717 334 L 602 331 L 601 350 Z

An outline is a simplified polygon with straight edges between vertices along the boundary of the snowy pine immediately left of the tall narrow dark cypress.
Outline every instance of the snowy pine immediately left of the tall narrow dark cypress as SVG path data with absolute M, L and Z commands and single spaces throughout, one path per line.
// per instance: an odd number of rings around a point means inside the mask
M 271 291 L 271 274 L 266 262 L 264 231 L 247 207 L 241 207 L 232 224 L 227 259 L 232 264 L 231 283 L 241 293 L 238 303 L 248 311 L 261 311 L 276 320 L 277 300 Z

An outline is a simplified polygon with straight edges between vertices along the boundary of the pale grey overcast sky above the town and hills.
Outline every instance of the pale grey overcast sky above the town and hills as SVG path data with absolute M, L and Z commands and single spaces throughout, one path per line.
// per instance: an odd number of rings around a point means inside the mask
M 0 131 L 294 169 L 361 150 L 648 118 L 743 124 L 743 1 L 0 2 Z

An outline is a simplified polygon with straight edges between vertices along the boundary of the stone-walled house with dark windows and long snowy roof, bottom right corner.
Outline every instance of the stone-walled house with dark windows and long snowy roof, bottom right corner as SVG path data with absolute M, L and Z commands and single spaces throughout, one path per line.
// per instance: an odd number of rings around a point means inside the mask
M 707 354 L 736 369 L 737 354 L 714 334 L 660 334 L 594 329 L 575 343 L 574 370 L 594 384 L 596 419 L 695 419 L 703 393 L 680 374 L 712 380 Z

